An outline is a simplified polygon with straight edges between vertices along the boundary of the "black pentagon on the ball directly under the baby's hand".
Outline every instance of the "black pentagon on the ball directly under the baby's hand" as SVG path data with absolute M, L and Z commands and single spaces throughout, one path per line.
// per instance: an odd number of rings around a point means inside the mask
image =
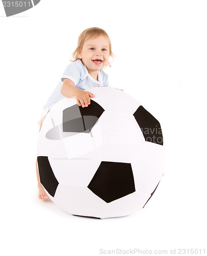
M 89 133 L 94 127 L 104 109 L 94 100 L 82 108 L 78 104 L 63 110 L 62 129 L 63 132 Z

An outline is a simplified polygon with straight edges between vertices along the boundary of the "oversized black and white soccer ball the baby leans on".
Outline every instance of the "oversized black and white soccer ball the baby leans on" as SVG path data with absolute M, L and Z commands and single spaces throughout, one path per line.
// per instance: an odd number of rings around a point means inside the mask
M 87 108 L 64 98 L 39 132 L 40 182 L 73 215 L 120 217 L 143 208 L 164 174 L 159 122 L 122 90 L 96 87 Z

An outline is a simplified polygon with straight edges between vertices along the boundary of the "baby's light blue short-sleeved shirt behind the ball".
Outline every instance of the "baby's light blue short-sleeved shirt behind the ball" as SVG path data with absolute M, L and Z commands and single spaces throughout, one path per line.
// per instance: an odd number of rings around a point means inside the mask
M 57 84 L 55 90 L 43 106 L 41 117 L 46 115 L 54 104 L 65 98 L 65 96 L 63 96 L 60 92 L 62 83 L 65 78 L 72 80 L 75 84 L 75 87 L 81 90 L 88 90 L 97 86 L 110 87 L 108 84 L 108 75 L 103 70 L 99 71 L 97 81 L 89 75 L 87 68 L 83 65 L 82 61 L 80 59 L 76 60 L 66 67 L 61 81 Z

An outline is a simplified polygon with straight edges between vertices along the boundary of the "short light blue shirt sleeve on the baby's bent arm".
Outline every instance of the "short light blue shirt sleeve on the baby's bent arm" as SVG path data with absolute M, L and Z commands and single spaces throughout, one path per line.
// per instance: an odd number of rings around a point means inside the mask
M 76 60 L 76 61 L 70 63 L 66 67 L 66 69 L 61 77 L 61 81 L 63 82 L 65 78 L 68 78 L 68 79 L 72 80 L 76 86 L 76 84 L 78 84 L 83 79 L 85 79 L 86 76 L 87 76 L 86 67 L 83 65 L 81 60 Z

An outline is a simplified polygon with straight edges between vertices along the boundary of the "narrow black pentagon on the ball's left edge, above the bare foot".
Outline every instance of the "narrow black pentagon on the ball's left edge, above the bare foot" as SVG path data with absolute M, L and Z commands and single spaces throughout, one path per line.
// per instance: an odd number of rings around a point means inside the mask
M 48 157 L 37 157 L 40 182 L 48 193 L 54 197 L 59 182 L 55 178 Z

